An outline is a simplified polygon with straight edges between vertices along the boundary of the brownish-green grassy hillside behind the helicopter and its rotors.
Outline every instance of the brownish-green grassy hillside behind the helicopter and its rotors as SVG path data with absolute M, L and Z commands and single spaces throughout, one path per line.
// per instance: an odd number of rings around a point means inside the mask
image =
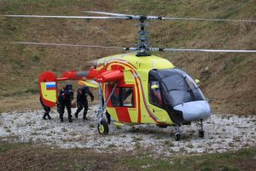
M 85 15 L 84 10 L 193 18 L 256 20 L 254 0 L 2 0 L 0 14 Z M 85 70 L 88 60 L 124 53 L 113 49 L 55 48 L 15 41 L 131 47 L 136 21 L 19 19 L 0 16 L 1 99 L 38 93 L 38 74 Z M 256 48 L 256 23 L 152 21 L 151 46 L 163 48 Z M 158 54 L 193 77 L 212 100 L 214 112 L 256 114 L 256 54 Z

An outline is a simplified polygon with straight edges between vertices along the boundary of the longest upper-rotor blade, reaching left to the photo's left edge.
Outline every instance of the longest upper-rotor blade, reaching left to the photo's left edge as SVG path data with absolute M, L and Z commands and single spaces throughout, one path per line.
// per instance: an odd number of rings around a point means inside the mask
M 25 17 L 25 18 L 55 18 L 55 19 L 121 19 L 130 20 L 128 16 L 113 16 L 113 17 L 99 17 L 99 16 L 53 16 L 53 15 L 15 15 L 6 14 L 5 17 Z

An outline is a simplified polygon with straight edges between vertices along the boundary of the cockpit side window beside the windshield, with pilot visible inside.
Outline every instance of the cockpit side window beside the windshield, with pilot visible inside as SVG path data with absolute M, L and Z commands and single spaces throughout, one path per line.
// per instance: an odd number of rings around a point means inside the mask
M 148 83 L 148 96 L 149 102 L 152 105 L 163 106 L 161 94 L 160 94 L 160 85 L 157 81 L 151 81 Z

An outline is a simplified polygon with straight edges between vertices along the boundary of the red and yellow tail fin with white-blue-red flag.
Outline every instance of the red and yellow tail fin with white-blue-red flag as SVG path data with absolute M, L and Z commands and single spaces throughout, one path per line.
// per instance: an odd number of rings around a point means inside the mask
M 44 105 L 49 107 L 55 106 L 57 102 L 57 77 L 51 71 L 44 71 L 38 78 L 40 96 Z

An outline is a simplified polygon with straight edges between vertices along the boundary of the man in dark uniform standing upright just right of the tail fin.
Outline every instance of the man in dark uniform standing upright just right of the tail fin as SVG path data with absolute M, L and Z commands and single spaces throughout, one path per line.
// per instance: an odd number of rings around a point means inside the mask
M 68 122 L 72 123 L 71 115 L 71 101 L 73 100 L 73 86 L 71 83 L 67 83 L 66 88 L 60 91 L 59 104 L 60 104 L 60 118 L 63 123 L 63 114 L 65 112 L 65 106 L 67 107 Z

